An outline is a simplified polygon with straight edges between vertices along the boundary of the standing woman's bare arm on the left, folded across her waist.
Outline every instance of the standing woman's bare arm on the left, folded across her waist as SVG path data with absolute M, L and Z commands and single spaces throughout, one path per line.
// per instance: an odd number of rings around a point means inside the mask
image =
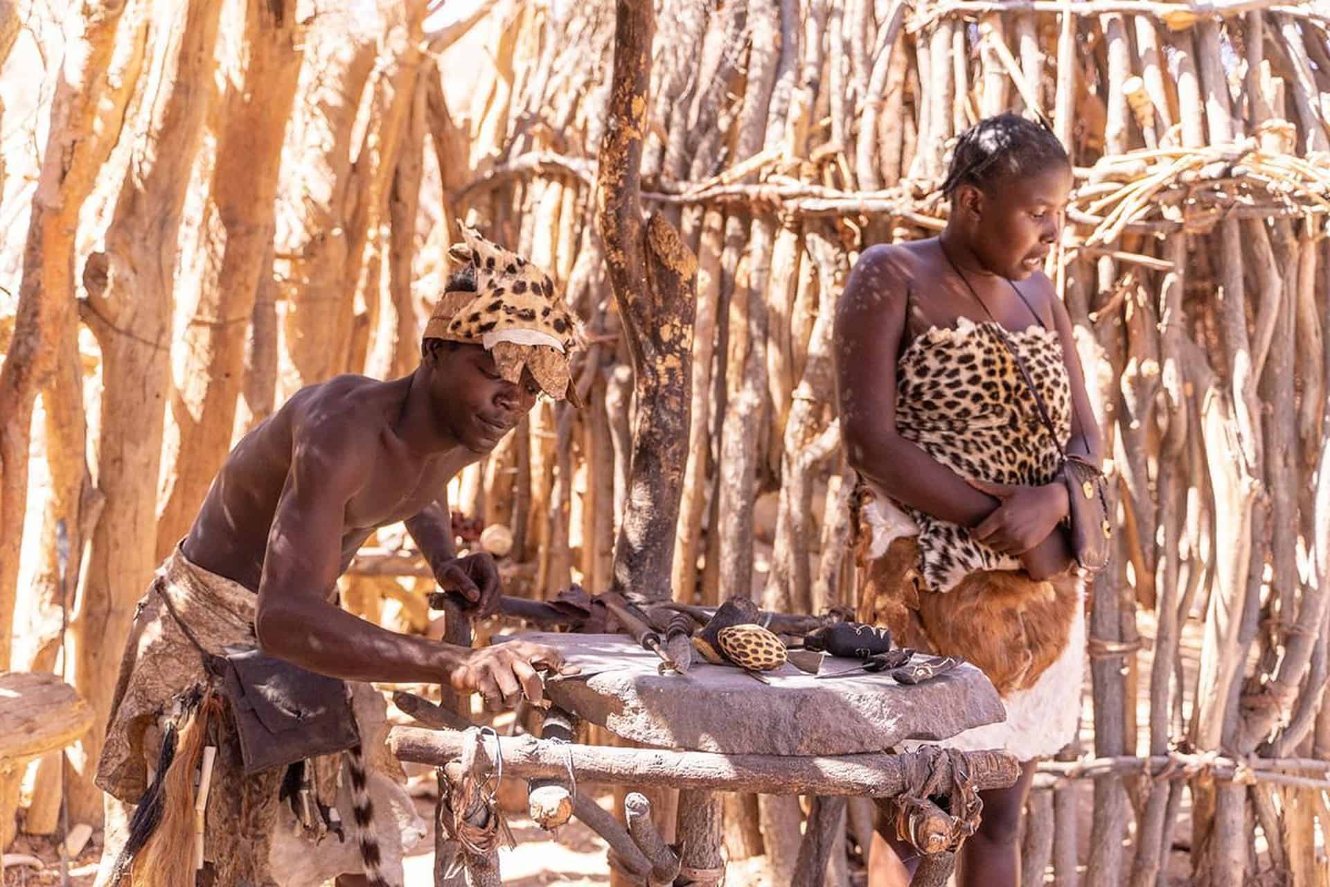
M 841 434 L 850 465 L 894 500 L 975 527 L 998 500 L 896 434 L 896 359 L 906 322 L 908 262 L 900 247 L 870 247 L 850 271 L 837 305 Z

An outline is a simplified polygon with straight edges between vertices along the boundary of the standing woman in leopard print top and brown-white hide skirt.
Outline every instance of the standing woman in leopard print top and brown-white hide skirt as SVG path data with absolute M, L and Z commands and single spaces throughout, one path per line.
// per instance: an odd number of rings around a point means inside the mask
M 1101 463 L 1071 320 L 1044 273 L 1072 185 L 1057 138 L 1016 114 L 956 144 L 946 230 L 863 253 L 837 311 L 841 423 L 857 491 L 859 618 L 904 646 L 963 656 L 992 680 L 1003 723 L 947 741 L 1023 762 L 982 793 L 963 887 L 1019 883 L 1033 761 L 1072 739 L 1085 648 L 1063 457 Z M 1037 395 L 1035 394 L 1037 391 Z M 908 883 L 874 852 L 870 887 Z

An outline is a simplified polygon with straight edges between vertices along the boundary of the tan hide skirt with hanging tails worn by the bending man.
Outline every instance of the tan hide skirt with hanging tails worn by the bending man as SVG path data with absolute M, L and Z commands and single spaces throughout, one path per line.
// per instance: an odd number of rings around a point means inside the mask
M 97 785 L 124 805 L 144 799 L 164 735 L 182 721 L 181 701 L 198 698 L 213 680 L 164 598 L 207 650 L 257 644 L 257 596 L 190 563 L 177 547 L 138 602 L 97 769 Z M 293 778 L 301 782 L 295 767 L 246 777 L 230 711 L 223 706 L 221 715 L 211 718 L 206 742 L 217 747 L 217 758 L 203 834 L 211 883 L 317 887 L 342 874 L 360 872 L 375 846 L 375 874 L 384 883 L 402 883 L 403 852 L 424 835 L 424 823 L 400 785 L 402 767 L 386 746 L 383 696 L 368 684 L 350 686 L 360 746 L 305 761 L 303 793 L 301 785 L 293 786 Z M 302 798 L 313 803 L 302 803 Z M 122 828 L 112 828 L 118 818 L 110 815 L 113 803 L 108 799 L 98 884 L 108 880 L 128 838 Z M 150 871 L 136 872 L 133 879 L 126 875 L 125 882 L 130 880 L 136 887 L 154 884 Z

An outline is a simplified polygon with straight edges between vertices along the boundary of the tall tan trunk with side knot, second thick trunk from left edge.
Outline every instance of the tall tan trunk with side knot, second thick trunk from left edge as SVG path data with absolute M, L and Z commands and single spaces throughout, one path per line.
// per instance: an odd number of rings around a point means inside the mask
M 92 537 L 88 574 L 70 622 L 85 641 L 76 686 L 93 706 L 98 726 L 110 715 L 134 601 L 157 565 L 157 476 L 174 302 L 172 247 L 213 97 L 219 5 L 153 4 L 145 120 L 134 128 L 134 150 L 106 231 L 106 251 L 89 257 L 84 273 L 85 318 L 104 362 L 97 465 L 106 508 Z M 80 777 L 69 785 L 74 822 L 101 821 L 101 793 L 92 785 L 100 753 L 101 735 L 93 731 L 70 754 Z

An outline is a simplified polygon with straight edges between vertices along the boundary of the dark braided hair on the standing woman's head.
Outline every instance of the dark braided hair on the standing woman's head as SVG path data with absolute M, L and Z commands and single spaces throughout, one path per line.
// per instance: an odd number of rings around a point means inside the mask
M 988 190 L 1001 180 L 1039 173 L 1053 164 L 1071 164 L 1071 158 L 1048 124 L 1007 112 L 960 134 L 942 193 L 950 197 L 964 184 Z

